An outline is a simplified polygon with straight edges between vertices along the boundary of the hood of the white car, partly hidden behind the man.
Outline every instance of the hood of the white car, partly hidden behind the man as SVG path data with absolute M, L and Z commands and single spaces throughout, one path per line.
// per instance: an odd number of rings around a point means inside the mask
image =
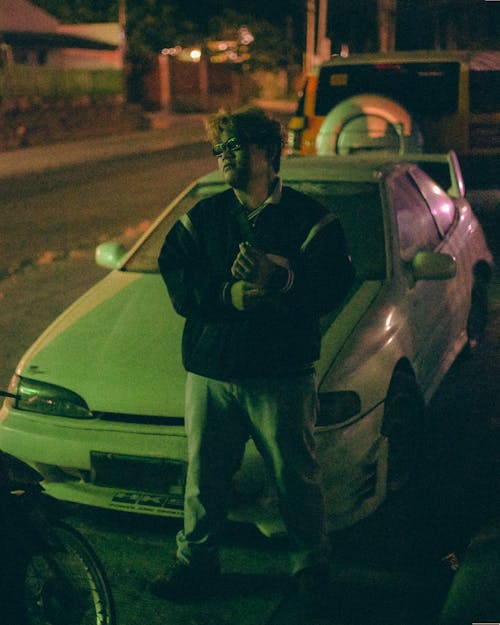
M 379 289 L 356 285 L 323 320 L 320 380 Z M 93 411 L 182 416 L 183 325 L 159 274 L 113 271 L 47 328 L 17 373 L 70 389 Z

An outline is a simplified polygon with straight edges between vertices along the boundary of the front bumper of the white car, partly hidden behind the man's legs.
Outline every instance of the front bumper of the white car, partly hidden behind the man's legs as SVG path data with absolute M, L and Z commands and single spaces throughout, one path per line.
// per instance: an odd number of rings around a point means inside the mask
M 358 522 L 385 498 L 387 441 L 379 433 L 378 421 L 374 412 L 349 424 L 318 428 L 317 454 L 330 530 Z M 182 517 L 180 475 L 187 460 L 183 426 L 78 421 L 19 411 L 5 402 L 0 411 L 0 449 L 35 468 L 44 478 L 46 492 L 57 499 Z M 154 475 L 165 465 L 171 479 L 148 482 L 148 471 Z M 273 481 L 252 442 L 235 476 L 231 502 L 231 520 L 253 523 L 267 536 L 284 532 Z

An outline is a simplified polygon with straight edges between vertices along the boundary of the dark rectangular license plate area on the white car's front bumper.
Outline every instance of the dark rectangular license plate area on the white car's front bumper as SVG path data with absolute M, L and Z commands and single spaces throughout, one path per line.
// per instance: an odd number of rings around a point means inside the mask
M 96 486 L 184 495 L 186 463 L 181 460 L 91 451 L 90 463 L 90 480 Z

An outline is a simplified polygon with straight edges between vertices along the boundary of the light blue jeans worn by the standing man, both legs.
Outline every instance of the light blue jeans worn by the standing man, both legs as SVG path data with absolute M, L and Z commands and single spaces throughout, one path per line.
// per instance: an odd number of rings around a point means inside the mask
M 188 472 L 177 557 L 190 566 L 218 561 L 231 480 L 251 436 L 274 475 L 292 572 L 328 558 L 321 474 L 315 455 L 314 374 L 221 382 L 188 374 Z

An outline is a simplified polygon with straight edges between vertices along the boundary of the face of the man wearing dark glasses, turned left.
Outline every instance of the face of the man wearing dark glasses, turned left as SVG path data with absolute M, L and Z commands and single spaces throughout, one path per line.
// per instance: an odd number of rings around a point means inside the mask
M 238 140 L 238 137 L 231 130 L 224 130 L 220 143 L 225 145 L 230 139 Z M 225 147 L 218 157 L 219 167 L 231 187 L 246 191 L 250 181 L 260 176 L 268 176 L 270 165 L 265 150 L 255 144 L 237 143 L 240 145 L 238 149 Z

